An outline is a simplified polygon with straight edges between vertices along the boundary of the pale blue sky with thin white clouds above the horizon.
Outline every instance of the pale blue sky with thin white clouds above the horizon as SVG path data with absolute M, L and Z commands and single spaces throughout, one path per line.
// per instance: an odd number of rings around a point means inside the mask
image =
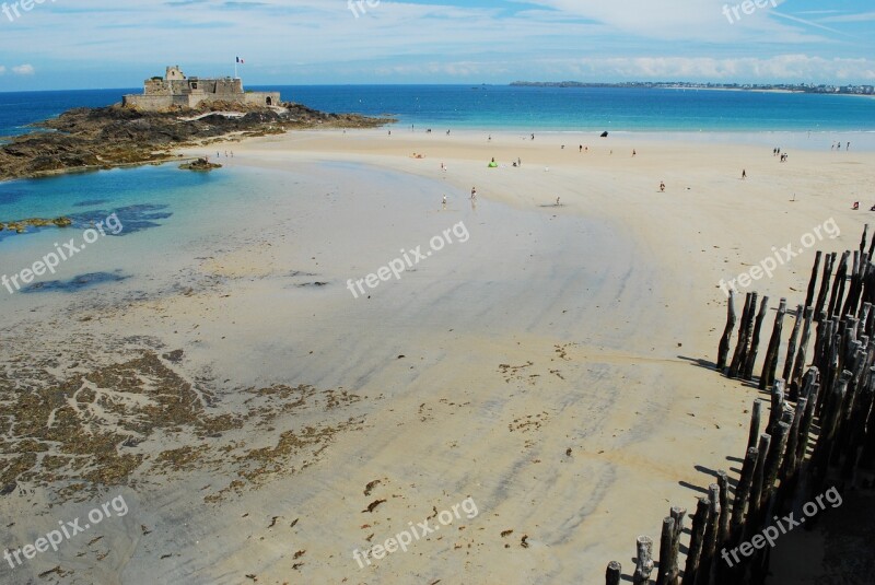
M 237 55 L 247 85 L 875 84 L 873 0 L 36 1 L 0 0 L 0 91 L 225 75 Z

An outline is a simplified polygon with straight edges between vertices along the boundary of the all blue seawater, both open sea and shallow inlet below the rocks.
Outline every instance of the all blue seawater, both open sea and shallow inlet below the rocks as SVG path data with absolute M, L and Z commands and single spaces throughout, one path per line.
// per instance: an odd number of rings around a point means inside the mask
M 390 116 L 409 131 L 431 128 L 597 136 L 607 130 L 611 136 L 743 142 L 762 148 L 763 152 L 783 147 L 784 150 L 822 149 L 828 154 L 835 142 L 850 142 L 854 150 L 875 151 L 875 100 L 865 96 L 510 85 L 250 89 L 279 91 L 285 101 L 326 112 Z M 112 105 L 120 102 L 125 93 L 139 91 L 131 87 L 0 93 L 0 141 L 3 137 L 8 140 L 23 132 L 42 131 L 32 125 L 67 109 Z M 359 172 L 366 174 L 369 169 Z M 182 173 L 174 164 L 148 165 L 0 183 L 0 222 L 67 217 L 73 221 L 73 232 L 82 232 L 116 213 L 125 230 L 110 239 L 124 237 L 125 242 L 137 242 L 131 251 L 135 257 L 145 250 L 164 249 L 171 239 L 177 243 L 173 249 L 203 242 L 207 232 L 197 233 L 192 226 L 235 221 L 236 215 L 221 215 L 219 210 L 224 210 L 222 213 L 237 210 L 245 215 L 241 194 L 250 194 L 254 182 L 275 185 L 278 191 L 300 197 L 307 197 L 316 189 L 308 186 L 306 176 L 287 185 L 288 175 L 234 167 L 233 163 L 221 173 L 211 174 Z M 54 226 L 28 229 L 26 234 L 0 231 L 0 274 L 14 273 L 30 265 L 30 258 L 40 258 L 55 248 L 57 237 Z M 109 245 L 102 246 L 106 253 L 110 250 Z M 173 257 L 167 251 L 162 261 Z M 80 286 L 112 285 L 122 278 L 118 276 L 117 260 L 107 258 L 101 264 L 97 258 L 97 253 L 89 255 L 94 265 L 88 271 L 84 265 L 79 268 L 71 265 L 67 279 L 44 281 L 26 292 L 62 294 Z M 131 261 L 125 266 L 130 270 L 135 265 Z

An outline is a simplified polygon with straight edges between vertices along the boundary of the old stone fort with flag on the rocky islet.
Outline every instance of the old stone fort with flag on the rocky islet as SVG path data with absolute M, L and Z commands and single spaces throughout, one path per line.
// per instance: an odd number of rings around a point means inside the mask
M 177 65 L 168 67 L 164 78 L 145 80 L 142 94 L 126 95 L 122 98 L 124 106 L 148 112 L 165 110 L 173 106 L 194 108 L 211 102 L 279 106 L 280 93 L 244 92 L 240 78 L 187 78 Z

